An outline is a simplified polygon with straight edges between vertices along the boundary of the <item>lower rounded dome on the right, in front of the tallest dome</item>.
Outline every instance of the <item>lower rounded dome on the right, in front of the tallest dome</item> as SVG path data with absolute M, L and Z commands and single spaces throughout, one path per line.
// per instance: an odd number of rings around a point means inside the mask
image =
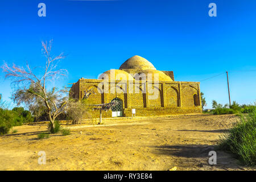
M 146 69 L 146 70 L 139 72 L 138 74 L 139 74 L 139 76 L 142 77 L 142 80 L 144 80 L 143 75 L 142 75 L 143 73 L 144 73 L 144 79 L 146 78 L 146 80 L 152 79 L 152 81 L 155 81 L 155 77 L 158 76 L 159 81 L 173 81 L 170 76 L 167 76 L 163 72 L 154 70 L 154 69 Z M 156 74 L 158 74 L 158 75 L 156 75 Z M 135 79 L 139 80 L 137 77 L 135 77 Z

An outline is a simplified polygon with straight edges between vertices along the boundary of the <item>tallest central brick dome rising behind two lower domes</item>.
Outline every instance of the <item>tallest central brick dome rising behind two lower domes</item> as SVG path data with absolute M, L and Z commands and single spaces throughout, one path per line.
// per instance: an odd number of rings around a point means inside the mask
M 155 69 L 154 65 L 150 61 L 144 59 L 141 56 L 133 56 L 127 59 L 125 63 L 121 65 L 119 69 Z

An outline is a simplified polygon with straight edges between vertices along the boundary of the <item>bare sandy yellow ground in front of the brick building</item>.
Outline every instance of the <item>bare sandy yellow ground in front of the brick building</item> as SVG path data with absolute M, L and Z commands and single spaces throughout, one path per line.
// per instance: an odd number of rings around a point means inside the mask
M 255 170 L 216 149 L 235 115 L 179 115 L 111 119 L 103 125 L 68 125 L 71 135 L 38 140 L 46 125 L 17 126 L 0 137 L 0 170 Z M 217 165 L 208 164 L 216 150 Z M 38 152 L 46 164 L 38 164 Z

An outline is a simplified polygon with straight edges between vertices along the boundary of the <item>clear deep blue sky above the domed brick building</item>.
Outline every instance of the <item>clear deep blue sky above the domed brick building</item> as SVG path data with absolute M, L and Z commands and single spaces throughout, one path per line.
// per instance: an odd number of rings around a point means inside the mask
M 46 4 L 46 17 L 38 4 Z M 209 3 L 217 17 L 208 15 Z M 201 81 L 229 72 L 231 100 L 256 100 L 256 1 L 6 1 L 0 2 L 0 62 L 44 64 L 42 40 L 67 55 L 59 68 L 79 78 L 97 78 L 134 55 L 176 81 Z M 10 81 L 0 73 L 0 93 L 10 101 Z M 226 75 L 201 82 L 208 108 L 228 103 Z

